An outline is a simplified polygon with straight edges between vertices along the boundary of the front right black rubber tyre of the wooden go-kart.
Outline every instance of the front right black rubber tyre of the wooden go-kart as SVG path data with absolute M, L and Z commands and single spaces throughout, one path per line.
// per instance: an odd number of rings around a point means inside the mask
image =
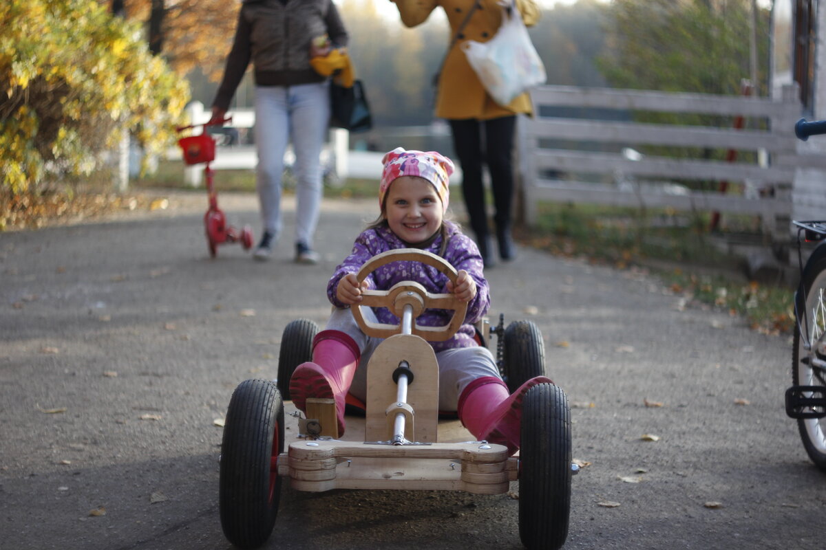
M 561 388 L 542 383 L 522 402 L 519 532 L 525 548 L 565 543 L 571 514 L 571 411 Z

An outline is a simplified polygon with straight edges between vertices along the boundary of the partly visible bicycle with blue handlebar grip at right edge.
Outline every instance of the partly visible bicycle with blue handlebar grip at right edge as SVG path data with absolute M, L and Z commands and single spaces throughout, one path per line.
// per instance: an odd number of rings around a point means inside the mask
M 826 134 L 826 120 L 795 124 L 795 135 Z M 826 221 L 793 220 L 797 227 L 800 284 L 795 292 L 792 387 L 786 390 L 786 414 L 797 420 L 800 439 L 814 465 L 826 472 Z M 819 242 L 805 265 L 803 242 Z

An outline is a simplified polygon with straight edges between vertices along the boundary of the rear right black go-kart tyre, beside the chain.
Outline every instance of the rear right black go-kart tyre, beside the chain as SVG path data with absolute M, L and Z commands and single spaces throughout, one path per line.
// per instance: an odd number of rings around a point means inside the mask
M 505 329 L 504 373 L 510 393 L 523 383 L 545 374 L 545 345 L 534 322 L 514 321 Z

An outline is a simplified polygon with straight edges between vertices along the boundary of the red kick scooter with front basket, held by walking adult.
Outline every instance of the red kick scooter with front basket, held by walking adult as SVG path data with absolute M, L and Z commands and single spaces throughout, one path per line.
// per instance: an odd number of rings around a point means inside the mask
M 207 133 L 207 126 L 221 126 L 230 122 L 232 117 L 213 123 L 207 122 L 202 125 L 181 126 L 177 130 L 183 132 L 184 130 L 203 127 L 203 131 L 198 135 L 191 135 L 185 138 L 178 139 L 178 145 L 183 150 L 183 162 L 192 166 L 193 164 L 201 164 L 206 162 L 204 167 L 204 174 L 207 176 L 207 194 L 209 196 L 209 209 L 207 214 L 204 214 L 204 227 L 207 230 L 207 244 L 209 245 L 209 253 L 213 258 L 216 255 L 216 248 L 219 244 L 224 242 L 240 242 L 244 250 L 249 250 L 253 246 L 253 230 L 249 225 L 244 225 L 244 228 L 238 232 L 238 229 L 233 226 L 226 225 L 226 218 L 224 212 L 218 208 L 218 197 L 215 189 L 212 186 L 212 177 L 215 175 L 209 163 L 215 160 L 215 139 Z

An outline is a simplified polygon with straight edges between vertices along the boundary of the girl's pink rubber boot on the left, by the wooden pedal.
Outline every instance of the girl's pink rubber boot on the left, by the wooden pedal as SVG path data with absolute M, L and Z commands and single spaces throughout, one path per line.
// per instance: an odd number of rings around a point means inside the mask
M 344 434 L 344 397 L 353 382 L 361 352 L 341 331 L 320 331 L 312 342 L 312 361 L 299 364 L 290 378 L 290 396 L 306 413 L 306 398 L 335 398 L 339 435 Z

